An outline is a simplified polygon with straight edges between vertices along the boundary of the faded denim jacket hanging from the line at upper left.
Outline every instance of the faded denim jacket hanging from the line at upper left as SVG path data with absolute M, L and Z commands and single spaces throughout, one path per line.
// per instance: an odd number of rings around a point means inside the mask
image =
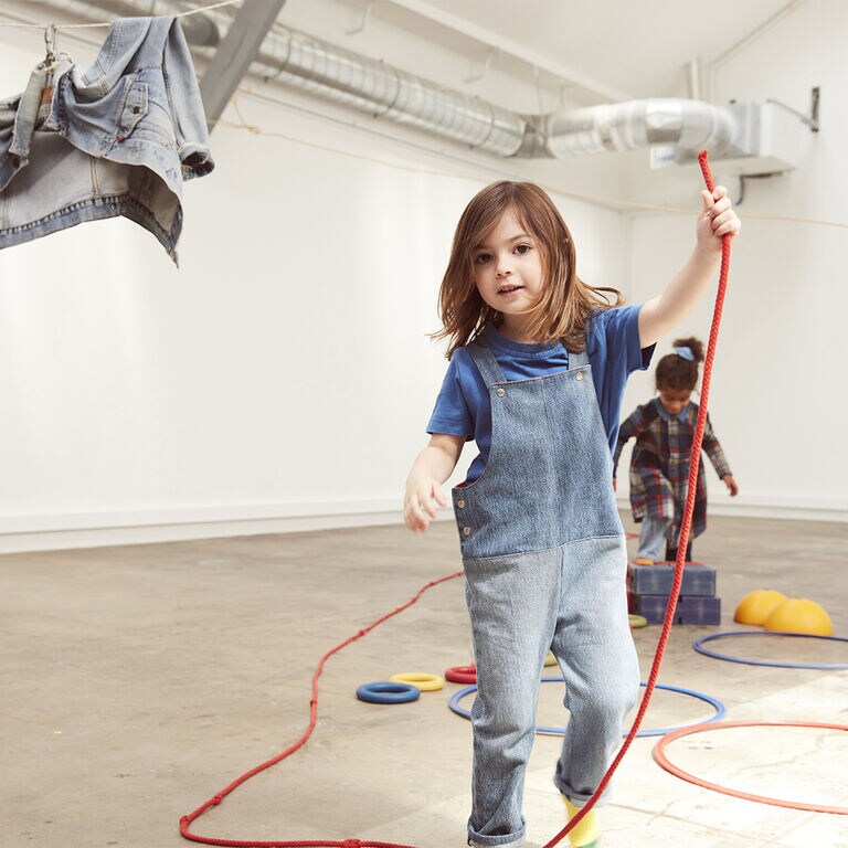
M 0 248 L 124 215 L 177 262 L 182 182 L 213 167 L 176 18 L 116 20 L 85 73 L 62 53 L 0 100 Z

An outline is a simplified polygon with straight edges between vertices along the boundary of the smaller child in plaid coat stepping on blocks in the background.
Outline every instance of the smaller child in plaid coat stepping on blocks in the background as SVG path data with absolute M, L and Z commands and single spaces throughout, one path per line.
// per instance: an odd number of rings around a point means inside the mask
M 703 344 L 698 339 L 677 339 L 674 351 L 657 363 L 657 396 L 638 406 L 618 431 L 613 469 L 618 467 L 618 457 L 627 441 L 636 439 L 630 456 L 630 509 L 634 520 L 642 524 L 636 552 L 636 562 L 640 565 L 649 565 L 662 559 L 674 562 L 677 559 L 677 543 L 689 488 L 689 455 L 698 421 L 698 404 L 690 399 L 698 385 L 698 367 L 701 362 Z M 703 431 L 703 451 L 731 497 L 735 496 L 739 487 L 709 417 Z M 692 559 L 691 540 L 706 529 L 707 476 L 701 463 L 686 550 L 687 561 Z

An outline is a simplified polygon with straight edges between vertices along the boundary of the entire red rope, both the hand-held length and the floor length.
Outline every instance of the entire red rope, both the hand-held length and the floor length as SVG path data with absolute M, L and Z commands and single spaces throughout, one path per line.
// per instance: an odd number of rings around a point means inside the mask
M 708 162 L 706 150 L 699 153 L 698 161 L 701 165 L 701 171 L 703 172 L 703 179 L 704 179 L 704 182 L 707 183 L 707 188 L 710 191 L 713 191 L 713 189 L 716 188 L 716 183 L 712 181 L 712 174 L 710 173 L 710 166 Z M 675 607 L 677 606 L 677 598 L 680 594 L 680 584 L 682 583 L 682 580 L 683 580 L 686 548 L 689 542 L 689 530 L 691 529 L 692 512 L 695 510 L 695 496 L 698 489 L 698 467 L 700 465 L 700 459 L 701 459 L 701 443 L 703 442 L 703 431 L 707 425 L 707 403 L 710 394 L 710 380 L 712 378 L 712 361 L 716 358 L 716 343 L 719 337 L 719 325 L 721 324 L 721 311 L 724 305 L 724 293 L 728 287 L 729 267 L 730 267 L 730 235 L 725 235 L 722 239 L 722 243 L 721 243 L 721 273 L 719 275 L 719 289 L 716 295 L 716 308 L 712 316 L 712 327 L 710 328 L 710 340 L 707 347 L 707 356 L 703 362 L 703 379 L 701 381 L 701 402 L 698 410 L 698 421 L 696 423 L 695 436 L 692 439 L 692 453 L 689 459 L 689 489 L 686 498 L 686 509 L 683 511 L 683 520 L 680 526 L 680 540 L 678 542 L 678 548 L 677 548 L 677 563 L 675 564 L 675 576 L 671 582 L 671 591 L 668 596 L 668 607 L 666 608 L 666 617 L 662 622 L 662 630 L 657 642 L 657 650 L 654 656 L 654 662 L 650 668 L 650 675 L 648 676 L 648 680 L 645 687 L 645 695 L 643 696 L 642 703 L 639 704 L 639 710 L 636 714 L 636 720 L 633 722 L 633 727 L 627 733 L 627 738 L 624 740 L 624 743 L 622 744 L 621 750 L 616 754 L 615 760 L 613 760 L 612 764 L 606 770 L 606 773 L 601 780 L 601 783 L 598 784 L 598 787 L 595 791 L 595 794 L 581 808 L 580 813 L 577 813 L 577 815 L 574 816 L 574 818 L 572 818 L 571 822 L 569 822 L 569 824 L 562 830 L 560 830 L 559 834 L 556 834 L 556 836 L 554 836 L 549 842 L 547 842 L 543 846 L 543 848 L 552 848 L 552 846 L 556 845 L 570 830 L 576 827 L 576 825 L 589 813 L 589 810 L 592 809 L 592 807 L 594 807 L 594 805 L 597 803 L 598 797 L 601 796 L 601 794 L 604 792 L 607 784 L 612 780 L 613 773 L 618 767 L 618 764 L 622 762 L 622 760 L 624 759 L 624 755 L 627 753 L 630 744 L 633 743 L 633 740 L 636 738 L 636 733 L 638 732 L 639 727 L 642 727 L 642 721 L 645 718 L 645 713 L 648 710 L 650 698 L 654 695 L 654 688 L 656 686 L 657 677 L 659 675 L 659 667 L 662 664 L 662 656 L 666 650 L 666 645 L 668 643 L 669 634 L 671 633 L 671 625 L 674 624 L 674 612 L 675 612 Z M 202 816 L 210 807 L 219 805 L 231 792 L 233 792 L 233 789 L 241 786 L 245 781 L 248 781 L 255 774 L 258 774 L 259 772 L 263 772 L 266 768 L 269 768 L 272 765 L 276 765 L 282 760 L 285 760 L 287 756 L 294 754 L 295 751 L 297 751 L 307 741 L 307 739 L 309 739 L 309 736 L 312 733 L 312 730 L 315 730 L 316 722 L 318 721 L 318 678 L 321 676 L 321 672 L 324 671 L 325 662 L 333 654 L 337 654 L 342 648 L 350 645 L 351 642 L 356 642 L 357 639 L 362 638 L 362 636 L 373 630 L 374 627 L 382 624 L 386 619 L 398 615 L 399 613 L 402 613 L 404 610 L 412 606 L 428 589 L 432 589 L 433 586 L 436 586 L 439 583 L 444 583 L 445 581 L 453 580 L 454 577 L 459 577 L 462 576 L 462 574 L 463 572 L 459 571 L 459 572 L 456 572 L 455 574 L 448 574 L 446 577 L 439 577 L 438 580 L 431 581 L 430 583 L 422 586 L 418 590 L 418 592 L 405 604 L 403 604 L 402 606 L 399 606 L 396 610 L 393 610 L 391 613 L 386 613 L 385 615 L 381 616 L 375 622 L 372 622 L 371 624 L 369 624 L 368 627 L 363 627 L 361 630 L 356 633 L 350 638 L 344 639 L 344 642 L 340 643 L 335 648 L 330 648 L 330 650 L 328 650 L 321 657 L 320 661 L 318 662 L 318 667 L 316 668 L 315 674 L 312 675 L 312 698 L 309 701 L 309 727 L 306 729 L 306 731 L 300 736 L 300 739 L 298 739 L 297 742 L 295 742 L 293 745 L 287 748 L 282 754 L 278 754 L 272 760 L 267 760 L 266 762 L 261 763 L 254 768 L 251 768 L 251 771 L 245 772 L 243 775 L 241 775 L 241 777 L 237 777 L 229 786 L 223 788 L 216 795 L 213 795 L 208 802 L 205 802 L 205 804 L 202 804 L 193 813 L 190 813 L 188 816 L 183 816 L 180 819 L 180 834 L 186 839 L 190 839 L 193 842 L 203 842 L 205 845 L 221 845 L 221 846 L 227 846 L 229 848 L 312 848 L 312 846 L 315 848 L 414 848 L 414 846 L 399 845 L 396 842 L 362 841 L 359 839 L 343 839 L 341 841 L 328 841 L 328 840 L 258 841 L 258 840 L 245 840 L 245 839 L 215 839 L 213 837 L 198 836 L 197 834 L 192 834 L 189 830 L 189 826 L 191 825 L 192 822 L 194 822 L 194 819 Z

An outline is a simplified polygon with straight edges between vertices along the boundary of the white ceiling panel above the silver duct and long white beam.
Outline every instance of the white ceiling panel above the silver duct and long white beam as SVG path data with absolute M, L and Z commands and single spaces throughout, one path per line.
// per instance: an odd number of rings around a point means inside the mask
M 290 4 L 298 0 L 289 0 Z M 807 0 L 343 0 L 363 20 L 524 73 L 533 65 L 574 83 L 594 102 L 686 94 L 685 67 L 704 67 Z M 286 9 L 280 21 L 286 19 Z M 593 91 L 594 89 L 594 91 Z

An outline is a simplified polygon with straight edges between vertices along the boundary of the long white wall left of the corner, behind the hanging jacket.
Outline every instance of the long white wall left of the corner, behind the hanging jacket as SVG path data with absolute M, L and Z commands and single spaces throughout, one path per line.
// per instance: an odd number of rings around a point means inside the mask
M 0 29 L 7 89 L 38 35 Z M 240 109 L 263 135 L 215 130 L 179 271 L 123 219 L 0 252 L 0 550 L 400 520 L 453 227 L 502 165 Z M 622 216 L 562 208 L 622 285 Z

